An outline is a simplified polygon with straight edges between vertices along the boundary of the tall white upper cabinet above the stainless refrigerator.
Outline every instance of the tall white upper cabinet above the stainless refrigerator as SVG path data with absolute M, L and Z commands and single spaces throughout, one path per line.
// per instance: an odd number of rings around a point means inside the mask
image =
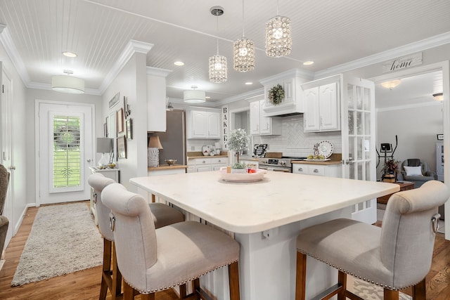
M 147 131 L 166 131 L 166 77 L 170 72 L 147 67 Z

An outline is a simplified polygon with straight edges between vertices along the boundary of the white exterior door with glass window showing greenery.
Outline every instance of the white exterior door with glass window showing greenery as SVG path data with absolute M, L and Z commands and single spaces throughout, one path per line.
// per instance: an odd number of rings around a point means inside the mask
M 39 103 L 37 204 L 88 200 L 93 107 Z

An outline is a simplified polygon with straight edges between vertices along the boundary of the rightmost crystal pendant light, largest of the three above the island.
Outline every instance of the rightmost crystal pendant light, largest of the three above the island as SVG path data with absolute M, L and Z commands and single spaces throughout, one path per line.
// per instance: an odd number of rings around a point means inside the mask
M 276 17 L 266 22 L 266 55 L 279 58 L 288 56 L 293 46 L 290 37 L 290 18 L 278 15 L 278 0 L 276 1 Z

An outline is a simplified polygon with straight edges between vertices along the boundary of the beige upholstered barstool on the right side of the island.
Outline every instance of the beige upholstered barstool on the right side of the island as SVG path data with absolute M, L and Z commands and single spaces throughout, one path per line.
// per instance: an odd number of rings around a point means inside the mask
M 337 219 L 305 228 L 297 236 L 295 299 L 305 299 L 307 255 L 337 268 L 339 300 L 361 299 L 347 291 L 347 274 L 383 287 L 384 299 L 399 299 L 399 289 L 413 287 L 413 299 L 425 300 L 425 275 L 430 270 L 437 207 L 449 198 L 449 188 L 428 181 L 420 188 L 395 193 L 387 202 L 382 228 Z M 326 298 L 328 299 L 328 298 Z

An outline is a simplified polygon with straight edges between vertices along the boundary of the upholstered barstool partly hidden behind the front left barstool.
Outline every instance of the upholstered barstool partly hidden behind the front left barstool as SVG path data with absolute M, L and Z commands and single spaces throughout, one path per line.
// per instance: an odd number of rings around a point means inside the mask
M 98 228 L 103 235 L 103 273 L 99 299 L 105 299 L 109 289 L 111 299 L 114 300 L 116 296 L 122 294 L 122 275 L 117 268 L 114 234 L 110 228 L 110 209 L 101 202 L 101 192 L 107 185 L 116 182 L 111 178 L 106 178 L 101 173 L 92 174 L 89 176 L 88 181 L 89 185 L 94 189 L 94 205 L 96 205 Z M 155 222 L 155 228 L 184 221 L 184 215 L 180 211 L 165 204 L 150 203 L 149 207 Z

